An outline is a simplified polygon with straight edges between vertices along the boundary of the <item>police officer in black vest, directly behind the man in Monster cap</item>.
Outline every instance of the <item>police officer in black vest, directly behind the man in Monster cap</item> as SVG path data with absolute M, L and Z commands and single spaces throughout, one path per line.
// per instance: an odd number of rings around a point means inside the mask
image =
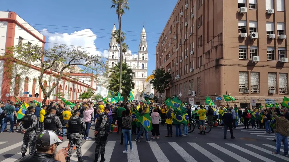
M 56 107 L 49 108 L 49 114 L 44 117 L 44 129 L 46 130 L 53 130 L 56 134 L 62 128 L 61 121 L 56 114 Z

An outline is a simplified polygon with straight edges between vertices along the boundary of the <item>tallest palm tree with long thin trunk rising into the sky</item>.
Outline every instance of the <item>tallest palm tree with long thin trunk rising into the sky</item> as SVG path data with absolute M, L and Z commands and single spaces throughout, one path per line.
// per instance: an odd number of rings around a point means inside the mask
M 121 16 L 125 14 L 124 9 L 129 10 L 128 7 L 129 3 L 128 0 L 111 0 L 112 5 L 110 8 L 116 8 L 116 13 L 118 15 L 118 28 L 121 31 Z M 119 39 L 121 40 L 121 32 L 119 32 Z M 122 47 L 120 44 L 120 65 L 122 64 Z M 121 90 L 121 73 L 122 73 L 122 66 L 120 66 L 120 85 L 119 85 L 119 91 Z

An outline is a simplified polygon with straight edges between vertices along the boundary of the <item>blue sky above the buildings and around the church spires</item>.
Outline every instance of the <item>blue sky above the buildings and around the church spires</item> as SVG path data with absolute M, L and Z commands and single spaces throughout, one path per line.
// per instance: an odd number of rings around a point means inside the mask
M 129 0 L 130 10 L 122 16 L 125 42 L 132 54 L 137 54 L 142 25 L 145 23 L 148 44 L 148 75 L 155 69 L 156 45 L 177 0 Z M 16 12 L 37 30 L 42 30 L 47 42 L 89 47 L 90 53 L 106 55 L 113 24 L 118 17 L 110 0 L 9 0 L 0 1 L 0 10 Z M 59 25 L 59 26 L 49 26 Z M 61 26 L 69 26 L 61 27 Z M 80 28 L 76 28 L 80 27 Z M 44 29 L 44 30 L 43 30 Z M 59 34 L 65 33 L 65 34 Z M 75 33 L 77 35 L 70 35 Z M 96 39 L 95 39 L 96 37 Z M 51 44 L 46 44 L 46 47 Z

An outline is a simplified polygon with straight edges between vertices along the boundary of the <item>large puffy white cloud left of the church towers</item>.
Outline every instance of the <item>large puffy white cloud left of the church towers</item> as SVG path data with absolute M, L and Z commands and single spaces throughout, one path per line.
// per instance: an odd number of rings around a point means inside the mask
M 90 29 L 75 31 L 71 34 L 49 33 L 47 29 L 42 29 L 40 33 L 46 36 L 46 41 L 49 42 L 47 43 L 48 47 L 53 47 L 57 44 L 79 46 L 89 52 L 90 55 L 101 55 L 108 57 L 108 50 L 97 50 L 94 42 L 97 36 Z

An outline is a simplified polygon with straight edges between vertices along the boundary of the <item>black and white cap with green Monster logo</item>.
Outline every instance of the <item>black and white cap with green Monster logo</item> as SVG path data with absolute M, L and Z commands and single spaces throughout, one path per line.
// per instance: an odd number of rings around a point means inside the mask
M 36 138 L 37 146 L 50 146 L 52 144 L 61 143 L 63 140 L 61 137 L 52 130 L 44 130 L 40 132 Z

